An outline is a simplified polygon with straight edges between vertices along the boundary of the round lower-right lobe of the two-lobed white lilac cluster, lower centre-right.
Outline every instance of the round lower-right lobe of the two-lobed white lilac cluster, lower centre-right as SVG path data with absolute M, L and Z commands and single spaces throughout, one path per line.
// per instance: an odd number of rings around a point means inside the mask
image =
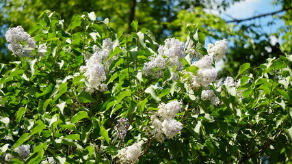
M 162 122 L 162 131 L 168 138 L 174 137 L 177 133 L 181 131 L 183 124 L 174 119 L 164 120 Z

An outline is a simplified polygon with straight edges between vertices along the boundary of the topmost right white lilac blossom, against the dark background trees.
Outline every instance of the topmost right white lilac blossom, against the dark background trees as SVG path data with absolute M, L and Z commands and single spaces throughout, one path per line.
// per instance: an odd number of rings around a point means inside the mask
M 208 53 L 216 59 L 222 59 L 227 53 L 228 41 L 226 39 L 219 40 L 215 44 L 208 44 Z

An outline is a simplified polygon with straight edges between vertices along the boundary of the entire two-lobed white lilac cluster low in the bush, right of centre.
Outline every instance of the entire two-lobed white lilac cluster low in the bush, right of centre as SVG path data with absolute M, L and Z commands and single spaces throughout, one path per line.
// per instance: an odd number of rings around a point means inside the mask
M 174 119 L 178 111 L 183 108 L 182 102 L 174 100 L 167 104 L 161 103 L 158 106 L 156 115 L 150 116 L 150 134 L 159 142 L 164 141 L 164 135 L 168 138 L 174 137 L 183 128 L 183 124 Z M 158 116 L 158 117 L 157 117 Z

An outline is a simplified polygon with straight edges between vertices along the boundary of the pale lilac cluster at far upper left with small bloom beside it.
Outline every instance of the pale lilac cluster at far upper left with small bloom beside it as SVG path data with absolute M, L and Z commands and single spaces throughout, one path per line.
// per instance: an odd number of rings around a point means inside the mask
M 47 52 L 45 44 L 36 45 L 36 40 L 27 33 L 23 27 L 17 26 L 8 29 L 5 33 L 8 49 L 18 57 L 32 57 L 32 51 L 38 48 L 38 55 L 44 56 Z

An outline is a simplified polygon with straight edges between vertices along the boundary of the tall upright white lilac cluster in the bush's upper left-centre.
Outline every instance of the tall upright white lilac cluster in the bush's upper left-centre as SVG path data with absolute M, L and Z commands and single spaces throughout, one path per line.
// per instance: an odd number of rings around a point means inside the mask
M 90 53 L 83 53 L 86 65 L 81 66 L 80 71 L 83 72 L 94 90 L 101 92 L 107 90 L 107 85 L 103 83 L 103 81 L 107 79 L 106 75 L 109 73 L 109 65 L 114 60 L 114 58 L 107 60 L 112 49 L 111 40 L 107 38 L 103 40 L 101 49 L 96 45 L 93 46 L 93 55 Z M 94 92 L 92 89 L 88 91 Z

